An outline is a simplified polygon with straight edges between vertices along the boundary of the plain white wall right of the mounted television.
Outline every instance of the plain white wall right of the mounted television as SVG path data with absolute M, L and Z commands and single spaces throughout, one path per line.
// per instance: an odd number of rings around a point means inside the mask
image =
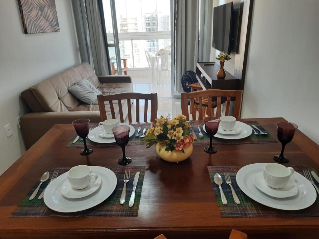
M 319 1 L 255 0 L 242 118 L 284 117 L 319 143 Z

